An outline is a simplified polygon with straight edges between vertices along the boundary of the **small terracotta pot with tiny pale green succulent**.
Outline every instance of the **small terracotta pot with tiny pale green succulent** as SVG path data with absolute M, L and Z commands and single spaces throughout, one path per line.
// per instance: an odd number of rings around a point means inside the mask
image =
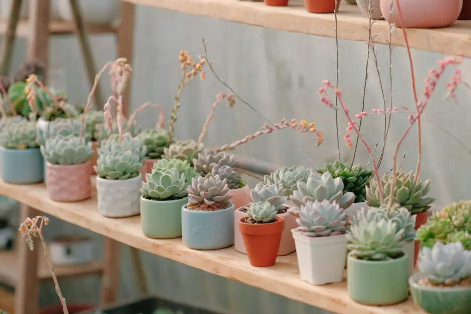
M 251 203 L 247 217 L 239 219 L 239 230 L 252 266 L 275 264 L 285 220 L 270 202 Z

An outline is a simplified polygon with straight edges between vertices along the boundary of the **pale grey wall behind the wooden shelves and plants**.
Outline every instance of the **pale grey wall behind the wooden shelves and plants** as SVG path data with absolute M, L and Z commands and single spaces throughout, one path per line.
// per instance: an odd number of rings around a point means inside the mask
M 346 4 L 342 4 L 345 6 Z M 316 127 L 325 134 L 324 144 L 315 146 L 313 134 L 299 134 L 290 130 L 277 131 L 256 139 L 235 151 L 238 154 L 271 161 L 281 165 L 305 165 L 312 167 L 332 160 L 337 154 L 334 112 L 319 101 L 317 90 L 323 79 L 335 82 L 335 40 L 266 30 L 259 27 L 228 23 L 202 17 L 194 17 L 170 11 L 139 7 L 136 12 L 134 39 L 134 59 L 132 61 L 132 107 L 137 108 L 146 101 L 155 101 L 166 108 L 167 118 L 173 105 L 180 78 L 177 55 L 180 50 L 188 50 L 195 58 L 202 54 L 201 39 L 208 41 L 210 59 L 218 74 L 239 95 L 251 103 L 272 121 L 283 117 L 306 119 L 316 122 Z M 97 65 L 115 59 L 116 41 L 113 36 L 93 36 L 91 40 Z M 364 72 L 366 65 L 365 43 L 339 41 L 340 48 L 340 88 L 352 113 L 361 110 Z M 389 59 L 387 46 L 377 45 L 378 62 L 389 97 Z M 18 40 L 15 62 L 16 68 L 26 56 L 26 43 Z M 413 51 L 416 70 L 417 91 L 422 95 L 427 70 L 436 66 L 443 55 Z M 50 47 L 52 85 L 67 91 L 73 102 L 85 103 L 90 86 L 74 37 L 54 37 Z M 462 66 L 463 80 L 469 81 L 469 62 Z M 406 51 L 396 48 L 393 51 L 394 106 L 413 106 L 410 88 L 410 74 Z M 445 75 L 447 80 L 451 73 Z M 108 79 L 102 80 L 102 89 L 108 93 Z M 469 143 L 467 125 L 471 122 L 469 94 L 458 92 L 459 104 L 443 100 L 445 89 L 441 81 L 432 97 L 424 116 Z M 218 92 L 227 92 L 210 73 L 205 81 L 195 80 L 184 92 L 181 109 L 176 124 L 177 138 L 197 139 L 202 124 Z M 382 108 L 382 97 L 376 70 L 370 62 L 367 85 L 366 108 Z M 353 149 L 346 147 L 342 140 L 346 127 L 343 114 L 340 117 L 340 138 L 342 158 L 349 159 Z M 143 112 L 138 120 L 144 128 L 156 123 L 156 112 Z M 238 102 L 234 108 L 220 106 L 207 134 L 207 146 L 220 146 L 256 132 L 265 122 Z M 407 115 L 393 116 L 386 158 L 382 172 L 391 166 L 391 156 L 395 142 L 407 126 Z M 364 135 L 374 146 L 382 145 L 383 119 L 378 116 L 364 120 Z M 469 152 L 463 149 L 444 131 L 424 120 L 423 162 L 421 178 L 433 181 L 430 194 L 437 204 L 468 198 Z M 379 152 L 379 149 L 377 150 Z M 401 153 L 406 154 L 402 169 L 415 169 L 416 131 L 404 142 Z M 368 155 L 362 146 L 358 151 L 358 162 L 366 162 Z M 458 174 L 458 175 L 456 175 Z M 254 183 L 252 182 L 252 186 Z M 96 239 L 97 256 L 102 255 L 102 240 L 87 230 L 71 224 L 51 219 L 48 236 L 64 232 L 91 234 Z M 188 302 L 210 304 L 219 309 L 230 309 L 234 313 L 324 313 L 321 309 L 289 300 L 283 296 L 255 289 L 245 284 L 220 278 L 159 256 L 142 253 L 147 274 L 153 291 L 171 295 Z M 136 296 L 129 249 L 123 246 L 120 297 Z M 61 280 L 63 292 L 72 301 L 99 300 L 99 279 L 80 278 Z M 41 303 L 57 302 L 54 287 L 45 283 L 41 290 Z

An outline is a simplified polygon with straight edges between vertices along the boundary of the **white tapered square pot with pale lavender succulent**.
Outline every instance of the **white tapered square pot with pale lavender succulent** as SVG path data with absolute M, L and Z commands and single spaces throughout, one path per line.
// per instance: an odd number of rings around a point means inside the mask
M 336 201 L 307 201 L 292 230 L 301 279 L 315 285 L 341 282 L 347 256 L 345 212 Z

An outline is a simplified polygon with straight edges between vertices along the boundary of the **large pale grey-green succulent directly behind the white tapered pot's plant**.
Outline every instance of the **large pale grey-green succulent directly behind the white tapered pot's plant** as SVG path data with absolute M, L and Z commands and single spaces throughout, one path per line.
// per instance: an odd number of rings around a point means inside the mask
M 355 199 L 352 192 L 343 192 L 343 181 L 341 178 L 333 178 L 329 172 L 325 172 L 322 176 L 313 172 L 308 177 L 307 183 L 298 182 L 297 190 L 293 192 L 291 201 L 298 207 L 292 207 L 289 212 L 295 216 L 299 216 L 300 207 L 307 201 L 323 201 L 329 200 L 339 204 L 343 209 L 348 208 Z

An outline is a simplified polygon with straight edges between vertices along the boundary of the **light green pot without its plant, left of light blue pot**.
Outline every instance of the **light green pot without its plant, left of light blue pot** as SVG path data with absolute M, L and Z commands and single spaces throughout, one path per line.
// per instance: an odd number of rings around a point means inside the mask
M 149 238 L 181 237 L 181 207 L 188 197 L 171 201 L 154 201 L 141 196 L 142 233 Z

